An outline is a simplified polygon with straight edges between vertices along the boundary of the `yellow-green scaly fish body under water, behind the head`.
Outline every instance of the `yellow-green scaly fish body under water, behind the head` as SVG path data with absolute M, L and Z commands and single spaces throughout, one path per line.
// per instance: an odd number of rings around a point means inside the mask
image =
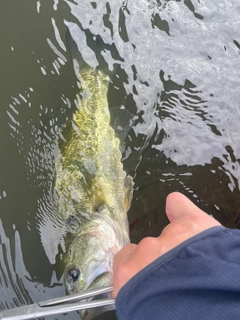
M 83 71 L 81 80 L 82 91 L 87 92 L 84 100 L 81 94 L 78 95 L 79 109 L 73 117 L 74 127 L 68 134 L 70 141 L 66 140 L 60 146 L 55 190 L 65 202 L 72 199 L 74 203 L 79 199 L 81 211 L 92 214 L 99 205 L 106 203 L 114 207 L 116 200 L 122 199 L 126 174 L 122 169 L 119 140 L 110 126 L 107 76 L 102 71 L 90 69 Z M 63 216 L 72 214 L 76 212 L 66 213 L 64 206 Z

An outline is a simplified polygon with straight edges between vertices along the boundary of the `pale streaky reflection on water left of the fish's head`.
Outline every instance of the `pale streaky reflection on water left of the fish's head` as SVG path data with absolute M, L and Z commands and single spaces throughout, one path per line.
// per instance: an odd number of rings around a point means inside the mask
M 64 292 L 62 284 L 58 282 L 54 272 L 47 285 L 34 281 L 26 270 L 22 250 L 18 231 L 13 228 L 10 240 L 6 236 L 0 220 L 1 310 L 30 304 L 33 300 L 46 300 L 46 297 L 50 299 L 52 296 L 51 288 L 54 288 L 58 295 L 62 295 Z

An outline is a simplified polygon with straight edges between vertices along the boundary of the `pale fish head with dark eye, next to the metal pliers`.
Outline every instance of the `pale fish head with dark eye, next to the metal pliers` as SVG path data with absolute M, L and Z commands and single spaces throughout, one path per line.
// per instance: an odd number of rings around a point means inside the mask
M 127 223 L 127 221 L 126 221 Z M 114 220 L 107 207 L 94 213 L 94 217 L 75 234 L 65 258 L 65 288 L 68 294 L 112 285 L 114 255 L 129 243 L 128 228 Z M 107 298 L 97 296 L 95 299 Z M 92 300 L 92 299 L 87 299 Z M 84 310 L 82 319 L 114 309 L 106 306 Z

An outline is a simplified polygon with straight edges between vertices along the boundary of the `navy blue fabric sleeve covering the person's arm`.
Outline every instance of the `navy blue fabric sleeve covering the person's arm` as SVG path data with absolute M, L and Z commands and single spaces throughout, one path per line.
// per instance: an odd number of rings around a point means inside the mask
M 208 229 L 136 274 L 116 298 L 118 320 L 240 319 L 240 230 Z

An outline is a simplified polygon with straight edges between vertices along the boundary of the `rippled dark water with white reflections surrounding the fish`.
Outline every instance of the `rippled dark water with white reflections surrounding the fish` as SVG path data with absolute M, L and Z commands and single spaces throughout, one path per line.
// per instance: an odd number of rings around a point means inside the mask
M 132 241 L 159 235 L 176 190 L 240 226 L 239 16 L 236 0 L 1 1 L 0 310 L 64 294 L 49 216 L 55 145 L 78 91 L 68 28 L 89 65 L 95 36 L 118 64 L 108 98 L 135 181 Z M 49 319 L 66 318 L 79 316 Z

